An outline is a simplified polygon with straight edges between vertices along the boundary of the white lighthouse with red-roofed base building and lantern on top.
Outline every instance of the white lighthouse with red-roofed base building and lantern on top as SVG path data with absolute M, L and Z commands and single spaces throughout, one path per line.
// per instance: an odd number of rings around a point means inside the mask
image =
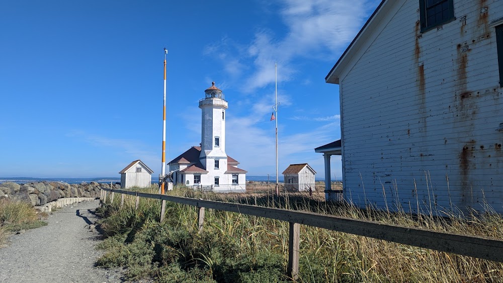
M 173 159 L 170 174 L 175 184 L 210 189 L 216 192 L 245 192 L 246 171 L 225 153 L 225 110 L 228 103 L 215 83 L 199 101 L 202 118 L 200 147 Z

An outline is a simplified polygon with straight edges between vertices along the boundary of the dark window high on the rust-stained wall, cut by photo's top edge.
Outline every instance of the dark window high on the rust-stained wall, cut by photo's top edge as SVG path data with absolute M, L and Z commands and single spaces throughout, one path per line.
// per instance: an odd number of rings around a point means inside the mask
M 453 0 L 419 0 L 421 32 L 454 20 Z

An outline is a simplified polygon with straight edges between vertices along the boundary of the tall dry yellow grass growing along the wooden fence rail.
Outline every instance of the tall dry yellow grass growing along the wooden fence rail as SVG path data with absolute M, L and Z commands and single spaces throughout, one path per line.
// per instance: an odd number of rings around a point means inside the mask
M 150 192 L 156 192 L 153 188 Z M 253 194 L 215 194 L 175 188 L 172 195 L 239 202 L 251 205 L 313 211 L 353 219 L 377 221 L 433 231 L 503 238 L 503 219 L 487 213 L 445 218 L 390 213 L 369 207 L 330 205 L 307 193 L 284 192 L 275 197 L 272 191 Z M 120 197 L 115 198 L 115 205 Z M 142 207 L 157 213 L 156 200 L 142 199 Z M 134 207 L 134 199 L 127 199 Z M 175 229 L 197 230 L 197 209 L 188 205 L 170 204 L 166 211 Z M 178 228 L 177 228 L 178 227 Z M 117 228 L 119 229 L 119 228 Z M 286 268 L 288 257 L 288 224 L 264 218 L 207 209 L 204 231 L 215 239 L 230 239 L 241 255 L 259 254 L 268 250 L 282 256 Z M 197 235 L 197 234 L 195 234 Z M 195 236 L 197 237 L 197 236 Z M 227 241 L 227 240 L 226 240 Z M 204 254 L 210 270 L 216 269 L 217 258 Z M 417 248 L 356 235 L 301 226 L 300 282 L 503 282 L 503 264 Z M 162 278 L 159 278 L 162 280 Z M 218 280 L 217 280 L 218 281 Z

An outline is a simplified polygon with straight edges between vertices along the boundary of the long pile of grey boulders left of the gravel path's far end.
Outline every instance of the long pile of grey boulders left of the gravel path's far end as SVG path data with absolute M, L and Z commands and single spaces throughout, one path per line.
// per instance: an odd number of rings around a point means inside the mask
M 37 182 L 17 184 L 6 182 L 0 184 L 0 198 L 30 202 L 32 205 L 44 205 L 62 197 L 100 197 L 100 189 L 120 189 L 118 184 L 101 184 L 97 182 L 67 184 L 62 182 Z

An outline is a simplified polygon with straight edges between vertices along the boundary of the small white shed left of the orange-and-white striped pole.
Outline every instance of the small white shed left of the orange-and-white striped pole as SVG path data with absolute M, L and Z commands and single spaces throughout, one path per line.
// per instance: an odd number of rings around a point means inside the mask
M 141 162 L 139 159 L 135 160 L 119 172 L 119 174 L 121 174 L 121 188 L 150 187 L 152 173 L 154 173 L 154 171 L 148 168 L 145 163 Z

